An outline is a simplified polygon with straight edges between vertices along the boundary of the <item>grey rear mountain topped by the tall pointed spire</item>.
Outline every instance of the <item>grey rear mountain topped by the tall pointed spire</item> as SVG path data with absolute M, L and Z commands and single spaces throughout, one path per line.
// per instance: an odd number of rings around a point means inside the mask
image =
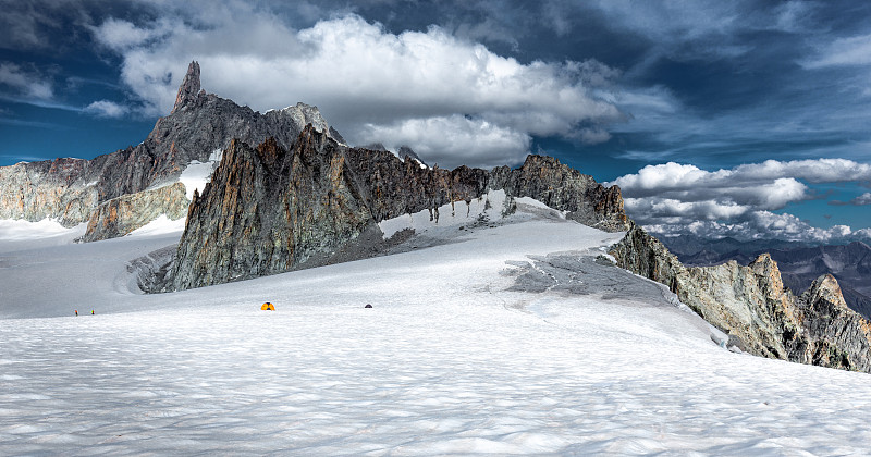
M 232 138 L 259 144 L 273 137 L 289 148 L 306 124 L 344 143 L 316 107 L 297 103 L 259 113 L 200 89 L 199 64 L 192 62 L 175 107 L 142 144 L 93 160 L 57 159 L 0 168 L 0 218 L 57 218 L 72 226 L 97 206 L 177 180 L 193 160 L 205 162 Z

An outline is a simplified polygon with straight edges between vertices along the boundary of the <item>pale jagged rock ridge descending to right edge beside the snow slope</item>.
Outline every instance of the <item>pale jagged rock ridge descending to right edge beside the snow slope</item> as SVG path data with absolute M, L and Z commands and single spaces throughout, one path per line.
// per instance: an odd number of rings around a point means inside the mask
M 763 254 L 740 267 L 684 267 L 658 239 L 633 225 L 612 248 L 617 264 L 667 285 L 680 301 L 758 356 L 871 371 L 869 323 L 844 302 L 831 275 L 801 296 L 784 286 Z

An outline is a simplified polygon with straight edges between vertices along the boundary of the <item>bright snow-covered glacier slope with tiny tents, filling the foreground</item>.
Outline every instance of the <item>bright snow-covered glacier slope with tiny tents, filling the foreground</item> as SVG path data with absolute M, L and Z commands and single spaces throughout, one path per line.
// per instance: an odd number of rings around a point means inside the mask
M 532 208 L 161 295 L 126 265 L 177 232 L 4 242 L 0 454 L 867 450 L 868 375 L 731 353 L 667 291 L 593 260 L 621 234 Z

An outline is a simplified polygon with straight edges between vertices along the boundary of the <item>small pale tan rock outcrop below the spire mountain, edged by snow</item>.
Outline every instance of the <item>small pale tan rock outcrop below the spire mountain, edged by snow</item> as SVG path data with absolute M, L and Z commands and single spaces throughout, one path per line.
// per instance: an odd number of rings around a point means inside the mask
M 173 221 L 182 219 L 187 215 L 187 203 L 182 183 L 103 201 L 91 213 L 82 240 L 96 242 L 124 236 L 161 214 Z

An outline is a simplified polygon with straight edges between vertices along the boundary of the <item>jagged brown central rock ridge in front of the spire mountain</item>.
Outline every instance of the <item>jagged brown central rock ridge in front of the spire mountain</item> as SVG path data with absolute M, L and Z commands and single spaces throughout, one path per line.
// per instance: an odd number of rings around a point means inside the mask
M 256 148 L 234 140 L 224 151 L 191 203 L 168 289 L 317 264 L 363 233 L 380 233 L 382 220 L 429 209 L 438 221 L 440 206 L 501 188 L 599 226 L 621 230 L 626 220 L 618 188 L 605 189 L 555 159 L 530 156 L 517 170 L 492 172 L 428 169 L 388 151 L 347 148 L 307 126 L 290 150 L 268 139 Z

